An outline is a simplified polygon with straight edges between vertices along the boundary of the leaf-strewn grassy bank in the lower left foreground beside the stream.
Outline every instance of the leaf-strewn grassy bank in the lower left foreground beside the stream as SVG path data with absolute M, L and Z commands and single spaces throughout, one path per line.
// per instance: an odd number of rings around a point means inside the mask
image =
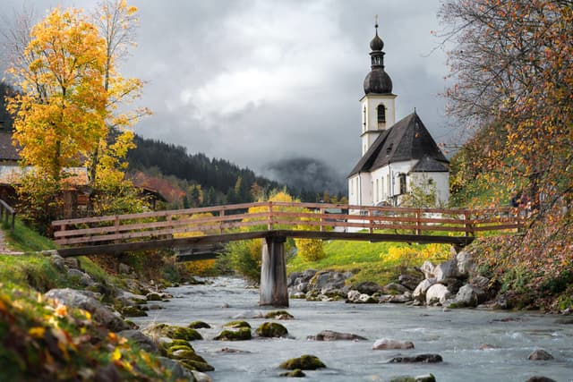
M 77 277 L 38 253 L 56 248 L 53 242 L 19 221 L 4 236 L 10 250 L 24 254 L 0 254 L 0 380 L 174 380 L 154 355 L 110 332 L 89 312 L 44 299 L 50 289 L 82 289 Z M 123 284 L 91 259 L 79 260 L 104 289 Z

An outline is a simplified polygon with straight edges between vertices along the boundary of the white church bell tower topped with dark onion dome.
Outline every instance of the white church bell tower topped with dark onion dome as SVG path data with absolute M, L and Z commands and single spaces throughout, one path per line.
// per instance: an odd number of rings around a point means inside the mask
M 362 155 L 370 149 L 372 143 L 384 130 L 396 122 L 396 110 L 392 94 L 392 81 L 384 71 L 384 42 L 378 36 L 378 16 L 374 25 L 376 34 L 370 42 L 371 71 L 364 79 L 364 97 L 360 100 L 362 108 Z

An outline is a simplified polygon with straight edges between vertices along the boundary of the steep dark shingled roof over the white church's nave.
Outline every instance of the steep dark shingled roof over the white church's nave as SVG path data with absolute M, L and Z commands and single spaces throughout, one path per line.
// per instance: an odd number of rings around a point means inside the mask
M 348 177 L 411 159 L 419 160 L 414 172 L 448 171 L 448 159 L 415 112 L 381 132 Z

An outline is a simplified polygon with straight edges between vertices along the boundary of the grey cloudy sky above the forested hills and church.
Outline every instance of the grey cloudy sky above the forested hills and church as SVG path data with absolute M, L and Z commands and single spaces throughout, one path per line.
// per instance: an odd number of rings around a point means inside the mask
M 446 126 L 446 55 L 434 50 L 439 0 L 133 0 L 138 46 L 124 76 L 148 81 L 153 115 L 136 131 L 259 173 L 281 159 L 320 159 L 347 174 L 360 157 L 363 79 L 374 15 L 397 116 L 414 107 L 438 142 Z M 97 1 L 26 0 L 92 10 Z M 0 13 L 21 10 L 2 0 Z

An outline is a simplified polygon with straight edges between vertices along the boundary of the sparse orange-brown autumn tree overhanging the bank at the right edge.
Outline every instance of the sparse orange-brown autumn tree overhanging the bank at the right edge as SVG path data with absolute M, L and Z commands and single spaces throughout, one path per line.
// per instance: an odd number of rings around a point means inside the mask
M 449 113 L 477 132 L 464 155 L 481 149 L 471 160 L 483 183 L 533 201 L 525 238 L 496 261 L 541 287 L 573 265 L 573 2 L 448 0 L 440 19 L 455 45 Z

